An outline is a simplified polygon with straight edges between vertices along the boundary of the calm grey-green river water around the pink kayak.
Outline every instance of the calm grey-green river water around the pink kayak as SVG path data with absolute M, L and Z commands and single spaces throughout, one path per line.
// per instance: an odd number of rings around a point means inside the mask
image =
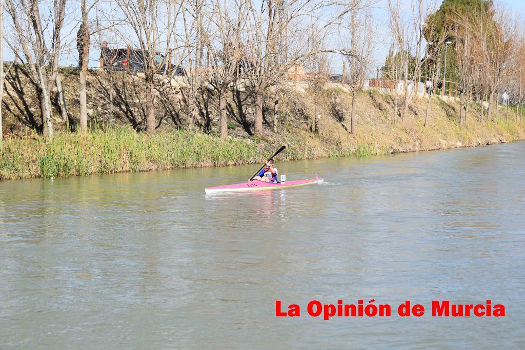
M 525 347 L 525 143 L 0 183 L 0 347 Z M 307 303 L 391 304 L 311 317 Z M 432 300 L 505 317 L 432 317 Z M 275 301 L 301 317 L 276 317 Z M 397 305 L 423 304 L 402 318 Z

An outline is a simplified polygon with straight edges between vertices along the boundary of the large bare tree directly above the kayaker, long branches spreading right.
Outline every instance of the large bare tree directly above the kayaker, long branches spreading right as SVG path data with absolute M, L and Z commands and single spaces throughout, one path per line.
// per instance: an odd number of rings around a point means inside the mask
M 341 23 L 342 18 L 362 0 L 345 0 L 343 2 L 322 0 L 264 0 L 260 7 L 254 2 L 248 3 L 247 36 L 249 40 L 248 57 L 251 64 L 250 84 L 254 97 L 254 134 L 262 133 L 263 97 L 267 88 L 283 81 L 288 69 L 317 52 L 307 51 L 312 47 L 312 40 L 322 40 L 332 33 Z M 317 30 L 309 30 L 306 18 L 322 18 Z M 276 43 L 283 38 L 294 45 L 279 46 Z M 276 52 L 276 48 L 280 48 Z M 323 51 L 340 51 L 352 55 L 350 50 L 341 48 Z M 286 59 L 275 59 L 276 55 L 285 55 Z M 282 62 L 276 66 L 277 62 Z

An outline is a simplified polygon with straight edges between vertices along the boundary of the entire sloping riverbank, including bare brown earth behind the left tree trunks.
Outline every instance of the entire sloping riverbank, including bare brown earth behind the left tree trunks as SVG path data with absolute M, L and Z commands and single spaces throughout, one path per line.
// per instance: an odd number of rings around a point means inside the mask
M 122 76 L 122 88 L 137 83 Z M 64 86 L 74 87 L 75 76 L 65 76 Z M 144 115 L 143 96 L 137 92 L 133 99 L 112 100 L 101 92 L 107 77 L 101 73 L 90 76 L 88 107 L 90 131 L 81 135 L 71 132 L 68 124 L 54 118 L 56 130 L 53 141 L 40 136 L 35 124 L 39 120 L 34 108 L 35 96 L 31 90 L 24 94 L 8 93 L 4 130 L 7 131 L 0 153 L 0 179 L 20 179 L 140 172 L 180 167 L 228 166 L 261 163 L 282 144 L 287 145 L 277 161 L 296 161 L 305 158 L 367 156 L 376 154 L 429 151 L 457 147 L 478 146 L 525 140 L 525 123 L 515 111 L 498 109 L 495 121 L 487 121 L 486 110 L 472 104 L 466 122 L 459 126 L 459 103 L 433 97 L 429 118 L 424 126 L 427 99 L 414 97 L 405 118 L 398 116 L 394 125 L 393 96 L 377 91 L 361 91 L 356 96 L 356 131 L 348 132 L 352 97 L 349 92 L 331 90 L 297 92 L 281 91 L 278 112 L 278 130 L 274 132 L 270 119 L 274 115 L 272 98 L 265 101 L 264 132 L 251 135 L 253 120 L 249 95 L 228 99 L 228 139 L 218 137 L 218 113 L 211 94 L 204 101 L 205 113 L 200 126 L 185 129 L 166 106 L 159 103 L 159 121 L 155 133 L 142 132 Z M 128 85 L 126 85 L 128 84 Z M 10 86 L 7 92 L 13 89 Z M 118 90 L 118 89 L 117 89 Z M 139 91 L 134 89 L 133 91 Z M 66 99 L 75 105 L 74 90 L 66 91 Z M 19 97 L 23 96 L 24 101 Z M 159 97 L 161 100 L 161 97 Z M 25 103 L 24 103 L 25 102 Z M 131 103 L 132 102 L 132 103 Z M 400 108 L 403 100 L 398 100 Z M 25 110 L 16 106 L 26 105 Z M 30 108 L 29 108 L 30 107 Z M 75 125 L 75 111 L 70 123 Z M 29 113 L 29 114 L 28 114 Z M 30 114 L 33 113 L 33 114 Z M 164 113 L 164 114 L 163 114 Z M 175 111 L 175 113 L 178 113 Z M 520 113 L 521 114 L 521 113 Z M 55 112 L 55 115 L 59 113 Z M 313 123 L 312 116 L 318 118 Z M 312 132 L 312 125 L 316 125 Z

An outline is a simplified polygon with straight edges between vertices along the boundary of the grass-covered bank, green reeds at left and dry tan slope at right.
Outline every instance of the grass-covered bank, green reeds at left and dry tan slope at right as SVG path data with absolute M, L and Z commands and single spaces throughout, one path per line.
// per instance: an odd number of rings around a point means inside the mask
M 34 129 L 18 126 L 3 141 L 0 180 L 261 163 L 282 144 L 287 145 L 287 150 L 277 157 L 279 162 L 525 140 L 525 124 L 512 118 L 507 121 L 503 108 L 497 121 L 482 121 L 481 109 L 472 105 L 467 121 L 459 126 L 458 103 L 438 98 L 430 104 L 427 126 L 423 126 L 427 100 L 417 97 L 405 120 L 393 125 L 392 96 L 374 91 L 358 94 L 357 131 L 351 135 L 344 128 L 348 120 L 341 120 L 330 108 L 334 100 L 343 114 L 348 113 L 349 93 L 331 91 L 313 98 L 307 91 L 285 100 L 277 133 L 267 123 L 262 137 L 252 137 L 233 119 L 235 128 L 225 141 L 218 138 L 215 124 L 204 133 L 197 128 L 182 130 L 164 123 L 152 135 L 133 129 L 125 121 L 112 126 L 95 123 L 85 135 L 61 126 L 53 141 L 39 136 Z M 313 110 L 322 115 L 316 133 L 309 131 L 306 122 Z

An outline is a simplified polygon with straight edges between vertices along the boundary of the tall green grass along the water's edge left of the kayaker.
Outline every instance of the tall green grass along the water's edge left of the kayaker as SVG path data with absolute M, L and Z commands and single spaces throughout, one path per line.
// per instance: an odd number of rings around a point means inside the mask
M 235 165 L 259 162 L 256 142 L 217 137 L 197 131 L 137 133 L 111 128 L 80 135 L 57 134 L 5 140 L 0 179 L 138 172 L 150 169 Z

